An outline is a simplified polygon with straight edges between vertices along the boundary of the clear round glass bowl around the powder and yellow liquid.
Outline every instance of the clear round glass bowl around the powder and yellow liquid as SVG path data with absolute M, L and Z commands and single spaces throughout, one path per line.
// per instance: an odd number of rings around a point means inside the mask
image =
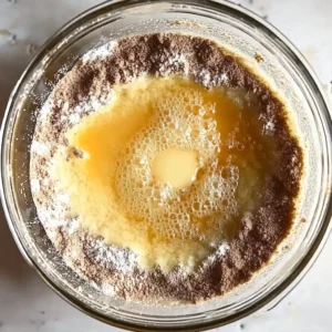
M 273 263 L 227 297 L 196 305 L 142 305 L 103 294 L 62 261 L 37 217 L 29 183 L 35 113 L 56 81 L 89 49 L 129 34 L 176 31 L 215 39 L 243 59 L 284 98 L 305 151 L 305 178 L 291 235 Z M 259 53 L 263 61 L 257 62 Z M 1 132 L 1 194 L 24 258 L 70 303 L 106 323 L 133 329 L 201 331 L 271 308 L 305 274 L 331 218 L 331 118 L 318 80 L 299 51 L 253 13 L 226 1 L 110 1 L 63 27 L 14 87 Z M 305 220 L 305 222 L 303 222 Z M 269 305 L 267 307 L 267 304 Z

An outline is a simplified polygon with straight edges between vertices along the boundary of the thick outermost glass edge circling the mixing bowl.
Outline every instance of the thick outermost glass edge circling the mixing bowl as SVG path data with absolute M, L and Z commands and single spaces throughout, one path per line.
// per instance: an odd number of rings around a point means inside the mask
M 167 2 L 167 1 L 165 1 Z M 172 3 L 179 3 L 179 4 L 184 4 L 183 1 L 178 1 L 178 0 L 173 0 L 173 1 L 168 1 Z M 73 31 L 75 28 L 77 28 L 83 21 L 93 19 L 97 15 L 101 15 L 103 13 L 107 13 L 114 9 L 118 9 L 122 7 L 126 7 L 126 6 L 135 6 L 135 4 L 148 4 L 152 3 L 151 1 L 139 1 L 139 0 L 129 0 L 129 1 L 113 1 L 112 3 L 110 1 L 106 1 L 100 6 L 96 6 L 85 12 L 83 12 L 82 14 L 77 15 L 76 18 L 74 18 L 71 22 L 69 22 L 68 24 L 65 24 L 62 29 L 60 29 L 54 37 L 52 37 L 46 43 L 45 45 L 41 49 L 41 51 L 35 55 L 35 58 L 32 60 L 32 62 L 30 63 L 30 65 L 27 68 L 27 70 L 23 72 L 21 79 L 18 81 L 14 90 L 12 91 L 12 94 L 9 98 L 9 103 L 6 110 L 6 114 L 3 117 L 3 122 L 2 122 L 2 126 L 1 126 L 1 133 L 0 133 L 0 138 L 1 138 L 1 146 L 0 146 L 0 155 L 1 155 L 1 167 L 0 167 L 0 176 L 1 176 L 1 201 L 2 201 L 2 206 L 3 206 L 3 210 L 6 214 L 6 218 L 7 221 L 9 224 L 9 228 L 12 232 L 12 236 L 21 251 L 21 253 L 23 255 L 23 257 L 25 258 L 25 260 L 35 268 L 35 270 L 38 271 L 38 273 L 41 276 L 41 278 L 58 293 L 60 294 L 63 299 L 65 299 L 68 302 L 70 302 L 72 305 L 74 305 L 75 308 L 80 309 L 81 311 L 90 314 L 91 317 L 98 319 L 103 322 L 106 323 L 111 323 L 115 326 L 118 328 L 123 328 L 123 329 L 133 329 L 135 331 L 155 331 L 155 328 L 153 326 L 141 326 L 137 324 L 132 324 L 132 323 L 123 323 L 122 321 L 118 320 L 114 320 L 114 319 L 110 319 L 108 317 L 105 315 L 101 315 L 100 313 L 96 313 L 94 310 L 87 308 L 84 303 L 80 302 L 79 300 L 76 300 L 75 298 L 73 298 L 70 293 L 61 290 L 58 288 L 58 286 L 55 283 L 52 282 L 52 280 L 50 280 L 40 269 L 38 263 L 35 263 L 33 261 L 33 259 L 29 256 L 29 252 L 25 251 L 25 249 L 23 248 L 21 240 L 14 229 L 13 222 L 11 221 L 12 219 L 12 214 L 8 208 L 8 197 L 4 195 L 6 190 L 9 189 L 9 180 L 8 180 L 8 169 L 7 165 L 6 165 L 6 154 L 9 153 L 9 147 L 6 146 L 7 141 L 4 141 L 3 138 L 8 136 L 8 129 L 9 129 L 9 122 L 11 120 L 12 116 L 12 112 L 13 110 L 13 104 L 14 104 L 14 100 L 17 97 L 18 92 L 20 91 L 24 79 L 27 79 L 27 76 L 31 73 L 31 71 L 33 71 L 33 69 L 37 66 L 37 64 L 39 63 L 39 61 L 41 59 L 43 59 L 43 56 L 54 46 L 56 45 L 65 35 L 69 34 L 69 32 Z M 324 110 L 323 111 L 323 117 L 325 120 L 325 137 L 328 137 L 326 139 L 326 145 L 328 148 L 331 149 L 331 128 L 332 128 L 332 124 L 331 124 L 331 116 L 329 113 L 329 107 L 328 107 L 328 102 L 324 97 L 324 93 L 319 84 L 318 79 L 315 77 L 315 74 L 313 73 L 312 69 L 310 68 L 310 65 L 308 64 L 308 62 L 304 60 L 304 58 L 301 55 L 301 53 L 288 41 L 288 39 L 282 35 L 276 28 L 273 28 L 271 24 L 264 22 L 261 18 L 259 18 L 257 14 L 252 13 L 251 11 L 243 9 L 242 7 L 239 7 L 235 3 L 228 2 L 228 1 L 211 1 L 211 0 L 204 0 L 204 1 L 195 1 L 195 0 L 188 0 L 186 1 L 185 4 L 196 4 L 196 6 L 203 6 L 203 7 L 207 7 L 207 8 L 211 8 L 214 10 L 218 10 L 218 9 L 224 9 L 224 10 L 231 10 L 234 13 L 241 13 L 242 17 L 250 23 L 257 25 L 260 31 L 264 34 L 267 34 L 268 37 L 272 38 L 273 37 L 273 41 L 278 43 L 278 45 L 287 51 L 288 54 L 290 54 L 291 56 L 293 56 L 293 59 L 300 60 L 299 63 L 303 66 L 303 70 L 305 72 L 307 79 L 309 80 L 309 83 L 311 85 L 311 87 L 313 87 L 314 90 L 317 90 L 320 100 L 322 102 L 322 104 L 324 105 Z M 331 169 L 331 160 L 328 160 L 328 166 L 329 169 Z M 6 178 L 4 178 L 6 176 Z M 303 276 L 307 273 L 307 271 L 312 267 L 313 262 L 315 261 L 315 259 L 318 258 L 320 251 L 322 250 L 328 236 L 326 232 L 328 230 L 331 229 L 331 225 L 330 225 L 330 219 L 332 216 L 332 206 L 331 206 L 331 193 L 329 191 L 328 195 L 325 195 L 325 201 L 324 201 L 324 206 L 328 206 L 326 209 L 326 214 L 324 217 L 324 222 L 320 229 L 320 232 L 317 237 L 317 239 L 314 240 L 314 243 L 311 247 L 310 252 L 307 255 L 307 257 L 304 257 L 304 259 L 299 263 L 299 266 L 297 267 L 295 271 L 293 272 L 293 274 L 291 276 L 291 278 L 289 278 L 289 280 L 283 281 L 278 288 L 276 288 L 270 294 L 266 295 L 263 299 L 261 299 L 258 303 L 256 303 L 255 305 L 252 305 L 251 308 L 246 309 L 243 312 L 238 312 L 235 313 L 230 317 L 228 317 L 227 319 L 220 319 L 220 320 L 216 320 L 214 322 L 207 322 L 207 323 L 203 323 L 203 324 L 195 324 L 195 325 L 190 325 L 190 326 L 181 326 L 183 331 L 197 331 L 197 330 L 206 330 L 206 329 L 211 329 L 211 328 L 216 328 L 216 326 L 220 326 L 220 325 L 225 325 L 227 323 L 230 323 L 232 321 L 236 321 L 240 318 L 243 318 L 255 311 L 257 311 L 258 309 L 261 309 L 262 307 L 264 307 L 267 303 L 269 303 L 271 300 L 280 297 L 282 293 L 284 293 L 286 290 L 289 290 L 290 288 L 293 288 L 294 284 L 297 284 L 302 278 Z M 284 294 L 283 294 L 284 295 Z M 174 330 L 173 328 L 158 328 L 158 331 L 172 331 Z

